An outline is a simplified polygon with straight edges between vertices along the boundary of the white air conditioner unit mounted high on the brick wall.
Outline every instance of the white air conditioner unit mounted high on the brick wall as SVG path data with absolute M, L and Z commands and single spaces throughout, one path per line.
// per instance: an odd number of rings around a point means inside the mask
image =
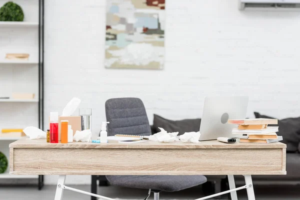
M 238 9 L 246 7 L 300 8 L 300 0 L 238 0 Z

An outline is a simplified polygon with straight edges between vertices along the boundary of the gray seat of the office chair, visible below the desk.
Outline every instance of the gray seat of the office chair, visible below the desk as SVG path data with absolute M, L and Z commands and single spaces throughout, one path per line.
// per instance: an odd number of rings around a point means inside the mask
M 179 191 L 206 182 L 203 175 L 106 175 L 112 185 L 155 189 L 160 191 Z

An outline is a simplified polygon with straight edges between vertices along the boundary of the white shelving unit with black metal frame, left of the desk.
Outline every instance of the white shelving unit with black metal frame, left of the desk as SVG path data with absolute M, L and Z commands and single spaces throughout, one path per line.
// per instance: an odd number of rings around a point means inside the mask
M 0 7 L 7 1 L 0 0 Z M 43 0 L 14 2 L 22 7 L 24 21 L 0 21 L 0 97 L 11 96 L 13 92 L 24 92 L 34 93 L 35 98 L 0 98 L 0 130 L 26 126 L 42 128 Z M 28 53 L 29 59 L 5 59 L 6 53 Z M 22 137 L 0 136 L 0 152 L 8 160 L 9 144 L 20 138 Z M 43 185 L 41 175 L 9 175 L 8 167 L 4 173 L 0 173 L 0 182 L 9 183 L 12 178 L 38 178 L 38 189 Z

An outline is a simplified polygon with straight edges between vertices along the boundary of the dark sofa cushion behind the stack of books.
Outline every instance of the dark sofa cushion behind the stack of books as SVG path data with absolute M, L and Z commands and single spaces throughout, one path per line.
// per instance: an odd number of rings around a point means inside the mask
M 254 112 L 256 118 L 275 118 Z M 278 135 L 283 137 L 282 142 L 286 144 L 287 152 L 295 152 L 300 142 L 300 117 L 285 118 L 278 120 L 278 124 L 270 124 L 268 126 L 279 126 Z

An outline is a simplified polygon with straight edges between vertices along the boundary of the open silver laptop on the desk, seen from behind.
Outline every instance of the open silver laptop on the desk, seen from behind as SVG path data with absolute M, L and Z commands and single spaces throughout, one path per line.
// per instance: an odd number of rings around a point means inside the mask
M 234 137 L 231 130 L 236 125 L 228 124 L 227 120 L 245 118 L 248 101 L 248 96 L 205 97 L 199 140 Z

